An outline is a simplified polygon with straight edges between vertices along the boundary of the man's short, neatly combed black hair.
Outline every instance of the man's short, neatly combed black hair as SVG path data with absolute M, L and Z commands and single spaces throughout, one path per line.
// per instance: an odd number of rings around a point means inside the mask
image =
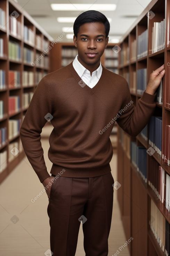
M 83 12 L 76 18 L 73 25 L 74 36 L 77 37 L 79 28 L 81 25 L 83 25 L 84 23 L 91 23 L 91 22 L 103 23 L 105 25 L 106 38 L 108 37 L 108 33 L 110 31 L 110 23 L 103 13 L 100 13 L 95 10 L 89 10 L 89 11 Z

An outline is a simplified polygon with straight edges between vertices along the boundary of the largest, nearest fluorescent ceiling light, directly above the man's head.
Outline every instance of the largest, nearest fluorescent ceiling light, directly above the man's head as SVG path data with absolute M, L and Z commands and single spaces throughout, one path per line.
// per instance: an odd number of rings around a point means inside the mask
M 97 10 L 97 11 L 114 11 L 116 5 L 113 4 L 91 4 L 91 3 L 51 3 L 51 8 L 54 11 L 84 11 L 84 10 Z

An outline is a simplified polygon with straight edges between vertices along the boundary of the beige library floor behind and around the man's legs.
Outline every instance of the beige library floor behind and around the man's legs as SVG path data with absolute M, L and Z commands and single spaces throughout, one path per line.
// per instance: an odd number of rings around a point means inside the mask
M 43 135 L 50 133 L 49 127 L 43 128 Z M 51 162 L 48 159 L 48 140 L 42 140 L 44 158 L 48 170 Z M 116 161 L 114 154 L 111 161 L 112 175 L 116 181 Z M 0 185 L 0 255 L 1 256 L 50 256 L 49 248 L 49 218 L 47 215 L 48 197 L 44 193 L 31 202 L 42 190 L 39 182 L 26 157 L 15 170 Z M 109 253 L 112 256 L 126 242 L 120 219 L 120 211 L 114 190 L 113 216 L 110 237 L 108 240 Z M 129 256 L 128 248 L 124 248 L 120 256 Z M 62 256 L 62 255 L 61 255 Z M 85 256 L 83 249 L 83 233 L 80 226 L 76 256 Z

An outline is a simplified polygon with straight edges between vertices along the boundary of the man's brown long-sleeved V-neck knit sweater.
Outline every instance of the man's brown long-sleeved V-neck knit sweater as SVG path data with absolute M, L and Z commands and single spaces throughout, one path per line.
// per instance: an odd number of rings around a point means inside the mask
M 41 131 L 49 119 L 54 129 L 48 157 L 51 173 L 87 178 L 111 171 L 110 134 L 115 121 L 131 136 L 148 123 L 155 95 L 144 92 L 134 108 L 126 80 L 102 67 L 94 88 L 84 84 L 72 63 L 39 82 L 20 129 L 24 151 L 40 181 L 48 178 Z

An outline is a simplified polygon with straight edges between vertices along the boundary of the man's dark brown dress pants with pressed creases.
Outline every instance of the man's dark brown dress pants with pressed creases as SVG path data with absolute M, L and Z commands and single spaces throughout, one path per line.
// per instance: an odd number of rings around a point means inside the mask
M 60 176 L 48 204 L 53 256 L 74 256 L 80 224 L 86 256 L 107 256 L 113 208 L 111 173 L 92 178 Z

